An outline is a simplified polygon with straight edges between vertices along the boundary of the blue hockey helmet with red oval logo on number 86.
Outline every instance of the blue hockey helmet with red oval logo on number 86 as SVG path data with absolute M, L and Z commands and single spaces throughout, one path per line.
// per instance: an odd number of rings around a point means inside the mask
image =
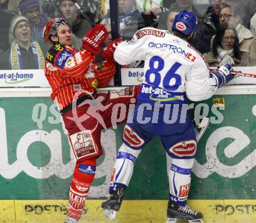
M 177 30 L 186 36 L 195 31 L 197 27 L 197 17 L 186 10 L 182 10 L 178 15 L 176 15 L 172 24 L 172 30 Z

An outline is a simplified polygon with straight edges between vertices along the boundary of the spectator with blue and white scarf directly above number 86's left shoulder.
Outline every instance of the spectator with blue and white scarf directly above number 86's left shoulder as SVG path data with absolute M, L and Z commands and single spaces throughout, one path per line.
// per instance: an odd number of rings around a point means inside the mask
M 137 30 L 145 27 L 141 13 L 136 9 L 134 0 L 118 0 L 120 36 L 130 40 Z

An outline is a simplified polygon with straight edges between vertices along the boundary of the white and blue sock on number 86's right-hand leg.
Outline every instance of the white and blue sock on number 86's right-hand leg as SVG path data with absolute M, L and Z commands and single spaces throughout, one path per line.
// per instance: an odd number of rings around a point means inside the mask
M 185 206 L 189 196 L 191 168 L 194 159 L 173 159 L 170 166 L 170 201 Z

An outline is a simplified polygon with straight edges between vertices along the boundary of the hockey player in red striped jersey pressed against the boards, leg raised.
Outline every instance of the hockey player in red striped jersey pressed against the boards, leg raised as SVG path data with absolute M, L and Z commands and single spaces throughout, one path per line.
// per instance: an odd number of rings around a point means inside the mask
M 70 24 L 65 19 L 52 19 L 44 27 L 44 41 L 51 45 L 45 62 L 45 76 L 52 88 L 76 158 L 69 192 L 65 223 L 76 223 L 87 198 L 96 171 L 96 159 L 102 154 L 101 130 L 124 123 L 129 105 L 135 103 L 137 87 L 109 93 L 97 93 L 106 87 L 116 73 L 113 52 L 120 39 L 104 48 L 102 64 L 93 63 L 107 37 L 103 25 L 92 28 L 82 39 L 83 48 L 72 48 Z M 122 104 L 126 111 L 117 112 Z M 116 110 L 115 113 L 112 113 Z M 122 110 L 122 109 L 121 109 Z

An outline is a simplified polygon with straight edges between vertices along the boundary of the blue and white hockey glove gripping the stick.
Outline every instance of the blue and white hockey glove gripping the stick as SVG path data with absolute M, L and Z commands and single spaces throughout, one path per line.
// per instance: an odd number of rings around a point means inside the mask
M 216 79 L 218 88 L 222 87 L 223 84 L 226 84 L 233 79 L 233 74 L 230 74 L 231 71 L 232 66 L 226 63 L 225 65 L 211 72 L 212 77 Z

